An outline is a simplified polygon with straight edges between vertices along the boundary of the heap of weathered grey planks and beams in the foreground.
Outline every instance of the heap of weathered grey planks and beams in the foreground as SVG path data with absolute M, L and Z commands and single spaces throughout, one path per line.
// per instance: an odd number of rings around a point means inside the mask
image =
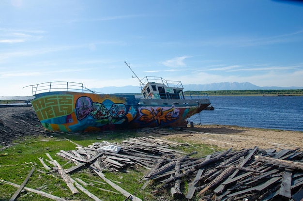
M 190 200 L 195 193 L 201 201 L 303 199 L 303 153 L 299 149 L 277 152 L 258 147 L 240 151 L 230 148 L 205 158 L 193 158 L 191 154 L 171 149 L 176 146 L 189 145 L 139 137 L 123 140 L 120 144 L 103 141 L 88 147 L 78 145 L 77 150 L 61 150 L 58 155 L 77 164 L 65 170 L 67 174 L 85 166 L 91 167 L 99 176 L 105 169 L 116 171 L 135 164 L 145 167 L 149 172 L 142 178 L 146 180 L 142 189 L 154 186 L 154 194 L 170 190 L 175 200 L 184 197 Z M 140 200 L 129 193 L 125 196 Z

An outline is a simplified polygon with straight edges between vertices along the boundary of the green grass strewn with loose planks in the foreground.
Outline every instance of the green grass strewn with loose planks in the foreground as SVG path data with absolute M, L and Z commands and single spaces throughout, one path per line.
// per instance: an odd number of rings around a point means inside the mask
M 6 148 L 0 151 L 0 179 L 8 182 L 12 182 L 18 185 L 21 185 L 24 179 L 27 177 L 31 168 L 35 166 L 36 170 L 30 177 L 30 180 L 26 184 L 30 188 L 38 188 L 41 186 L 47 186 L 46 189 L 42 191 L 50 193 L 52 195 L 64 198 L 64 199 L 73 199 L 73 200 L 86 200 L 92 201 L 86 194 L 80 193 L 73 195 L 69 188 L 66 186 L 65 182 L 61 179 L 60 175 L 57 172 L 47 172 L 44 169 L 39 157 L 48 160 L 48 157 L 45 153 L 48 153 L 52 156 L 53 159 L 57 160 L 63 169 L 68 169 L 71 166 L 74 166 L 73 163 L 68 162 L 68 160 L 57 155 L 60 150 L 76 150 L 76 144 L 80 144 L 84 147 L 96 142 L 96 141 L 109 141 L 109 142 L 121 142 L 123 139 L 128 139 L 130 137 L 137 137 L 135 132 L 104 132 L 104 133 L 81 133 L 81 134 L 62 134 L 62 135 L 53 135 L 53 137 L 27 137 L 25 139 L 19 139 L 14 141 L 15 145 Z M 98 138 L 98 139 L 97 139 Z M 58 139 L 70 139 L 76 144 L 68 140 Z M 182 139 L 176 139 L 176 141 L 182 142 Z M 181 146 L 177 147 L 177 150 L 180 150 L 185 153 L 191 153 L 197 151 L 197 154 L 192 155 L 191 157 L 203 157 L 205 155 L 211 154 L 214 151 L 217 151 L 216 147 L 206 146 L 202 144 L 195 144 L 194 142 L 189 142 L 193 146 Z M 7 153 L 7 155 L 5 155 Z M 2 155 L 1 155 L 2 154 Z M 45 161 L 46 164 L 48 164 Z M 48 164 L 51 166 L 50 164 Z M 44 172 L 39 172 L 42 170 Z M 126 191 L 132 193 L 136 197 L 144 201 L 153 201 L 155 198 L 152 195 L 152 190 L 154 186 L 148 186 L 144 190 L 140 190 L 145 181 L 140 179 L 149 171 L 142 167 L 128 168 L 128 172 L 103 172 L 109 180 L 113 182 L 118 182 L 117 185 Z M 111 186 L 105 183 L 96 173 L 88 168 L 81 169 L 75 173 L 70 174 L 72 178 L 81 178 L 83 181 L 93 185 L 85 186 L 92 194 L 97 196 L 103 201 L 124 201 L 125 196 L 120 193 L 114 194 L 112 192 L 106 192 L 100 190 L 99 188 L 115 191 Z M 92 180 L 92 181 L 91 181 Z M 93 181 L 99 181 L 93 182 Z M 186 186 L 186 185 L 185 185 Z M 9 186 L 6 184 L 0 184 L 0 200 L 8 201 L 15 191 L 16 187 Z M 184 192 L 187 191 L 186 187 L 183 189 Z M 20 196 L 24 196 L 27 192 L 20 193 Z M 167 197 L 167 199 L 172 199 L 169 192 L 167 195 L 162 195 Z M 45 197 L 37 195 L 35 193 L 28 193 L 24 197 L 18 197 L 16 201 L 48 201 Z

